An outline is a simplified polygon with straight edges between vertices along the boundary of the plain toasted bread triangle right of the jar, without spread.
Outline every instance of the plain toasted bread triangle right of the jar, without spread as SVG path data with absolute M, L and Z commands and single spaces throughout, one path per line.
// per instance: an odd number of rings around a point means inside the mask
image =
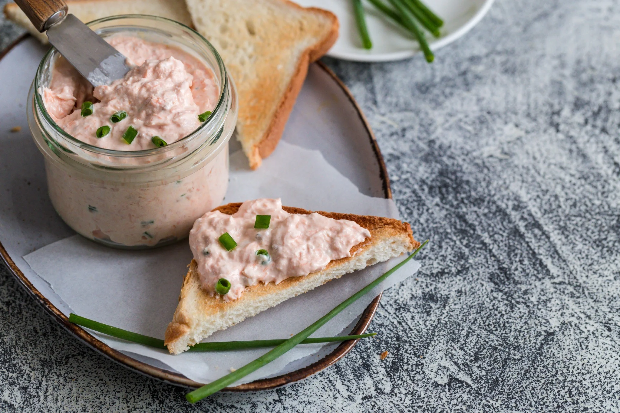
M 186 0 L 239 95 L 237 139 L 256 169 L 280 140 L 309 63 L 338 37 L 331 12 L 286 0 Z

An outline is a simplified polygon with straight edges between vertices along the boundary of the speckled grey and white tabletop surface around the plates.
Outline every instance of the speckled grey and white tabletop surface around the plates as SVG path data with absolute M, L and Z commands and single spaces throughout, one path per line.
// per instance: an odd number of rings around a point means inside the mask
M 18 34 L 1 22 L 0 46 Z M 0 411 L 620 411 L 619 39 L 617 0 L 497 0 L 432 66 L 325 59 L 432 240 L 384 295 L 381 338 L 334 367 L 190 406 L 79 344 L 2 267 Z

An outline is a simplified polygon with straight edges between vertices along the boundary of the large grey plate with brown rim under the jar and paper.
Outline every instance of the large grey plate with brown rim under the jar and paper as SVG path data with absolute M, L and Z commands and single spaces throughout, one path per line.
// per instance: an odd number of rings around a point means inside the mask
M 0 256 L 32 297 L 71 334 L 92 349 L 131 370 L 174 385 L 195 388 L 201 383 L 179 373 L 137 360 L 104 344 L 76 324 L 49 299 L 50 286 L 32 272 L 22 256 L 74 234 L 56 215 L 47 198 L 42 155 L 30 137 L 25 98 L 45 48 L 24 36 L 0 53 Z M 9 129 L 19 126 L 20 131 Z M 288 134 L 303 128 L 308 134 Z M 293 137 L 297 136 L 297 137 Z M 300 136 L 312 136 L 304 139 Z M 347 176 L 361 193 L 391 198 L 387 172 L 379 147 L 365 116 L 347 87 L 322 63 L 312 64 L 282 139 L 320 150 L 329 163 Z M 28 211 L 28 212 L 25 212 Z M 34 275 L 34 277 L 32 277 Z M 368 305 L 351 334 L 366 331 L 381 295 Z M 63 311 L 64 310 L 64 311 Z M 321 360 L 280 376 L 226 388 L 258 391 L 301 380 L 329 367 L 349 352 L 356 340 L 344 341 Z

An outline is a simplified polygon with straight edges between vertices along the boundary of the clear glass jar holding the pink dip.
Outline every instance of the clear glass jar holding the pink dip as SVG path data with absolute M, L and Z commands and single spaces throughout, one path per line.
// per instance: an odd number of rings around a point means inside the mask
M 88 25 L 104 38 L 130 35 L 192 54 L 213 71 L 219 99 L 207 121 L 167 146 L 135 151 L 92 146 L 64 132 L 45 109 L 41 92 L 59 56 L 51 48 L 38 66 L 27 108 L 51 202 L 69 227 L 104 245 L 149 248 L 185 238 L 196 219 L 221 204 L 228 187 L 228 141 L 237 121 L 234 84 L 215 48 L 178 22 L 119 15 Z

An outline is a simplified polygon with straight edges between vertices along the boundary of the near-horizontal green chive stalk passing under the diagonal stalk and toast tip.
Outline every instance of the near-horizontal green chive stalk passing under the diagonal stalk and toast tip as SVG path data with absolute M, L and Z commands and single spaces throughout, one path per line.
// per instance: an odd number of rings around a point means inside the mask
M 132 333 L 131 331 L 123 330 L 108 324 L 98 323 L 97 321 L 84 318 L 76 314 L 69 314 L 69 321 L 78 326 L 86 327 L 99 333 L 107 334 L 108 336 L 117 337 L 126 341 L 135 342 L 138 344 L 144 344 L 144 346 L 155 347 L 156 349 L 166 349 L 164 341 L 162 339 L 156 339 L 155 337 L 144 336 L 143 334 Z M 377 333 L 357 334 L 353 336 L 338 336 L 338 337 L 312 337 L 305 339 L 299 344 L 317 344 L 336 341 L 347 341 L 364 339 L 366 337 L 376 336 Z M 242 350 L 242 349 L 258 349 L 260 347 L 275 347 L 279 346 L 286 339 L 274 339 L 274 340 L 248 340 L 248 341 L 216 341 L 210 343 L 198 343 L 190 347 L 188 351 L 226 351 L 226 350 Z

